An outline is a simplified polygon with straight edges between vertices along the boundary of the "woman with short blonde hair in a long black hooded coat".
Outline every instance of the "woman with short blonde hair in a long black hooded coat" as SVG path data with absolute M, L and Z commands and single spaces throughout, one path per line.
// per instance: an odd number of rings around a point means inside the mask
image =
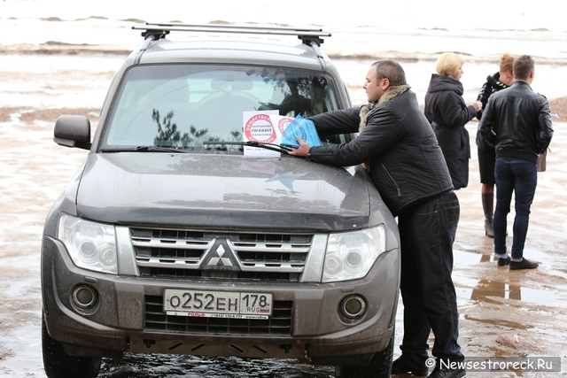
M 482 109 L 480 101 L 467 106 L 462 98 L 463 64 L 458 54 L 442 54 L 425 94 L 425 116 L 435 130 L 455 190 L 469 184 L 470 141 L 464 125 Z

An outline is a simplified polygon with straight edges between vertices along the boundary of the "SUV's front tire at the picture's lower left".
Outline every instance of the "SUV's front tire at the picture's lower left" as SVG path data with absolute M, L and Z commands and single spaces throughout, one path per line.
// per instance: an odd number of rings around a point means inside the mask
M 70 356 L 63 345 L 47 332 L 42 315 L 43 367 L 48 378 L 96 378 L 100 371 L 100 357 Z

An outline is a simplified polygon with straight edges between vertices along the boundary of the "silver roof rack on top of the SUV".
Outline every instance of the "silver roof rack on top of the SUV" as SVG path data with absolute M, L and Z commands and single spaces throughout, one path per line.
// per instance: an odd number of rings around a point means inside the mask
M 252 26 L 252 25 L 218 25 L 218 24 L 185 24 L 181 22 L 151 23 L 146 22 L 145 26 L 133 26 L 132 29 L 144 30 L 144 44 L 140 52 L 146 50 L 153 41 L 165 38 L 169 32 L 206 32 L 206 33 L 234 33 L 252 35 L 297 35 L 298 38 L 307 46 L 311 46 L 317 58 L 322 62 L 325 70 L 323 55 L 319 47 L 323 42 L 322 36 L 330 37 L 330 33 L 323 32 L 321 28 L 309 27 L 272 27 L 272 26 Z M 141 54 L 138 55 L 140 57 Z M 136 59 L 136 60 L 139 60 Z

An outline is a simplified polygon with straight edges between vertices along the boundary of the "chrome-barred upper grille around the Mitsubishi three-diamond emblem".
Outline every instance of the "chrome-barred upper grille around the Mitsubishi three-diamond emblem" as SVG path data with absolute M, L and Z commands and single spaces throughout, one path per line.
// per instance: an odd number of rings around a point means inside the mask
M 313 240 L 313 235 L 305 234 L 150 228 L 130 228 L 130 233 L 142 276 L 207 280 L 298 282 Z M 234 269 L 204 268 L 208 263 L 205 259 L 210 261 L 207 256 L 211 256 L 207 252 L 219 241 L 228 247 L 222 249 L 221 257 L 232 258 Z

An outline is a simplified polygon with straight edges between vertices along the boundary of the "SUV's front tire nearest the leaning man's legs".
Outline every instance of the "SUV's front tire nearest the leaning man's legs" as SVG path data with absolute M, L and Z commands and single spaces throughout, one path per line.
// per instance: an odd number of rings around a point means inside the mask
M 378 351 L 366 366 L 335 366 L 337 378 L 390 378 L 392 375 L 392 356 L 394 330 L 384 351 Z

